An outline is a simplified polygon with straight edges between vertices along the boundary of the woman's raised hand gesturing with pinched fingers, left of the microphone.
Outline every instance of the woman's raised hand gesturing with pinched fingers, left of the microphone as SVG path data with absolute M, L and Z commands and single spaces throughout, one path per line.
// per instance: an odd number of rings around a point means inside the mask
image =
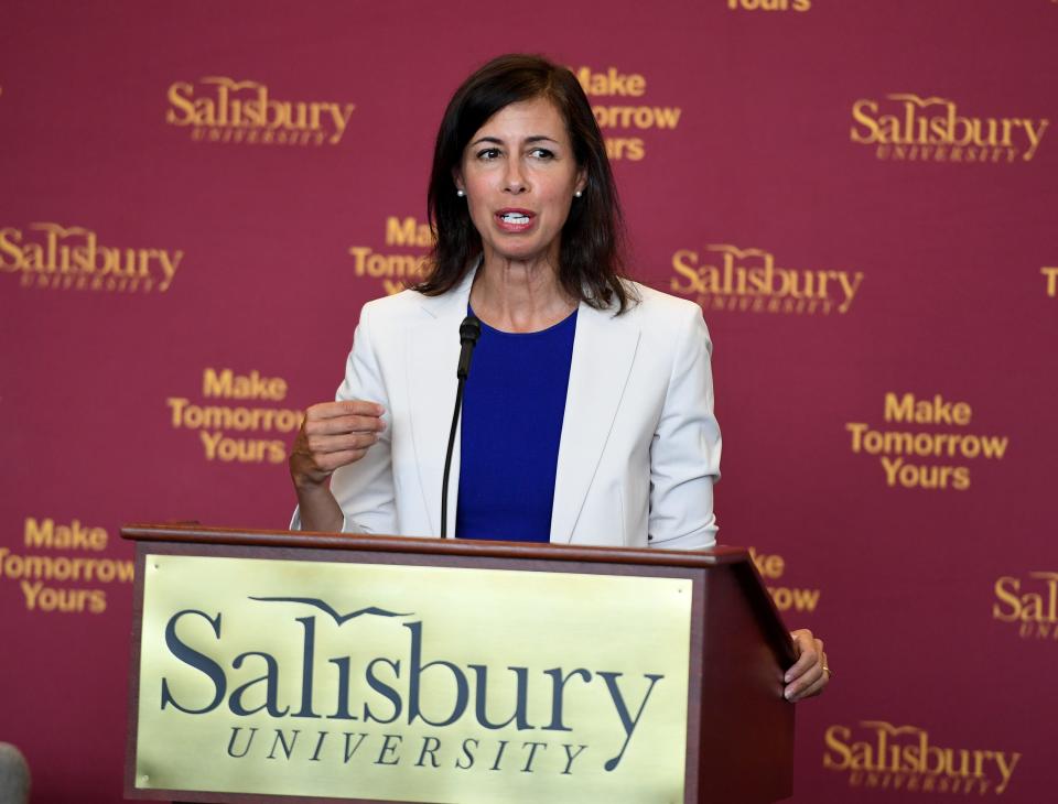
M 322 402 L 305 411 L 290 450 L 290 476 L 299 491 L 323 486 L 339 466 L 353 464 L 386 428 L 380 404 L 364 400 Z

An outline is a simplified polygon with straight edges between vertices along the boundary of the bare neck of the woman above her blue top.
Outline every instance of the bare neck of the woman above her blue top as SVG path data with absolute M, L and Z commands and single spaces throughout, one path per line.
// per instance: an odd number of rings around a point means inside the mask
M 577 305 L 546 260 L 521 262 L 486 254 L 474 278 L 471 306 L 494 329 L 536 333 L 565 318 Z

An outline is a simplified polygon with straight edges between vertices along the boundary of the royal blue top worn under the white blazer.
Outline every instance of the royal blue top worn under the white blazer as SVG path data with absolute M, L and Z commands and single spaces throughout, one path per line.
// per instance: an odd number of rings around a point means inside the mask
M 575 333 L 576 311 L 539 333 L 482 322 L 463 396 L 457 539 L 549 541 Z

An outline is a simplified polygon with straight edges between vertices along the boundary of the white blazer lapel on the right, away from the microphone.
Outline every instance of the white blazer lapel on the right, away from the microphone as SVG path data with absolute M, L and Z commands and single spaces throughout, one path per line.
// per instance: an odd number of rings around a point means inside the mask
M 562 420 L 551 541 L 569 542 L 617 415 L 639 345 L 639 308 L 615 317 L 582 303 Z

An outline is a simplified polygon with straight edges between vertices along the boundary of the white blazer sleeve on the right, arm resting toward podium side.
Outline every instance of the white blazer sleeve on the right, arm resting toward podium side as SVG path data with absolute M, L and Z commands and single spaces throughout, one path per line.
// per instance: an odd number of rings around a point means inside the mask
M 712 343 L 697 305 L 681 316 L 661 416 L 650 448 L 651 547 L 700 550 L 716 543 L 713 484 L 720 479 L 720 426 L 713 415 Z

